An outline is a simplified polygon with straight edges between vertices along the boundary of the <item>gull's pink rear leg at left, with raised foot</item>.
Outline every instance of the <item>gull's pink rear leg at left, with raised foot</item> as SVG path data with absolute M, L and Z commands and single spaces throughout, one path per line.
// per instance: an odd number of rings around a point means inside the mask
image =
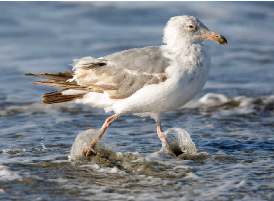
M 113 122 L 117 117 L 119 117 L 121 115 L 122 114 L 115 114 L 115 115 L 112 115 L 111 117 L 107 118 L 107 120 L 103 124 L 102 128 L 100 129 L 100 135 L 98 136 L 98 138 L 94 139 L 92 142 L 89 142 L 89 145 L 91 146 L 92 149 L 94 149 L 94 147 L 97 144 L 98 140 L 100 140 L 100 138 L 102 137 L 102 135 L 105 133 L 105 131 L 107 130 L 107 127 L 109 127 L 111 125 L 111 122 Z M 91 151 L 91 149 L 89 149 L 88 146 L 86 146 L 83 149 L 82 153 L 87 158 L 87 157 L 89 157 L 92 154 L 92 151 Z

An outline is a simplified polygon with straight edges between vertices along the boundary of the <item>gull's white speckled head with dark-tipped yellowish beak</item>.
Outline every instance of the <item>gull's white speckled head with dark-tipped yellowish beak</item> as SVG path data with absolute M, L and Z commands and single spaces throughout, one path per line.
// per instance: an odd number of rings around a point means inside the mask
M 227 45 L 227 40 L 222 35 L 210 31 L 200 20 L 192 16 L 172 17 L 164 28 L 163 42 L 168 46 L 201 43 L 205 40 Z

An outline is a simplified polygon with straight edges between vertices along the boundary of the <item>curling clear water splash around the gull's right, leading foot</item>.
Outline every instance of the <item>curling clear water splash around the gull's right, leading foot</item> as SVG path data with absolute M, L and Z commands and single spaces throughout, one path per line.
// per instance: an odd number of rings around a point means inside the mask
M 195 144 L 191 140 L 190 135 L 184 129 L 169 128 L 167 131 L 164 132 L 164 135 L 167 137 L 167 141 L 174 150 L 176 156 L 182 153 L 184 153 L 185 155 L 195 154 L 197 152 Z M 165 143 L 162 143 L 161 151 L 171 153 Z

